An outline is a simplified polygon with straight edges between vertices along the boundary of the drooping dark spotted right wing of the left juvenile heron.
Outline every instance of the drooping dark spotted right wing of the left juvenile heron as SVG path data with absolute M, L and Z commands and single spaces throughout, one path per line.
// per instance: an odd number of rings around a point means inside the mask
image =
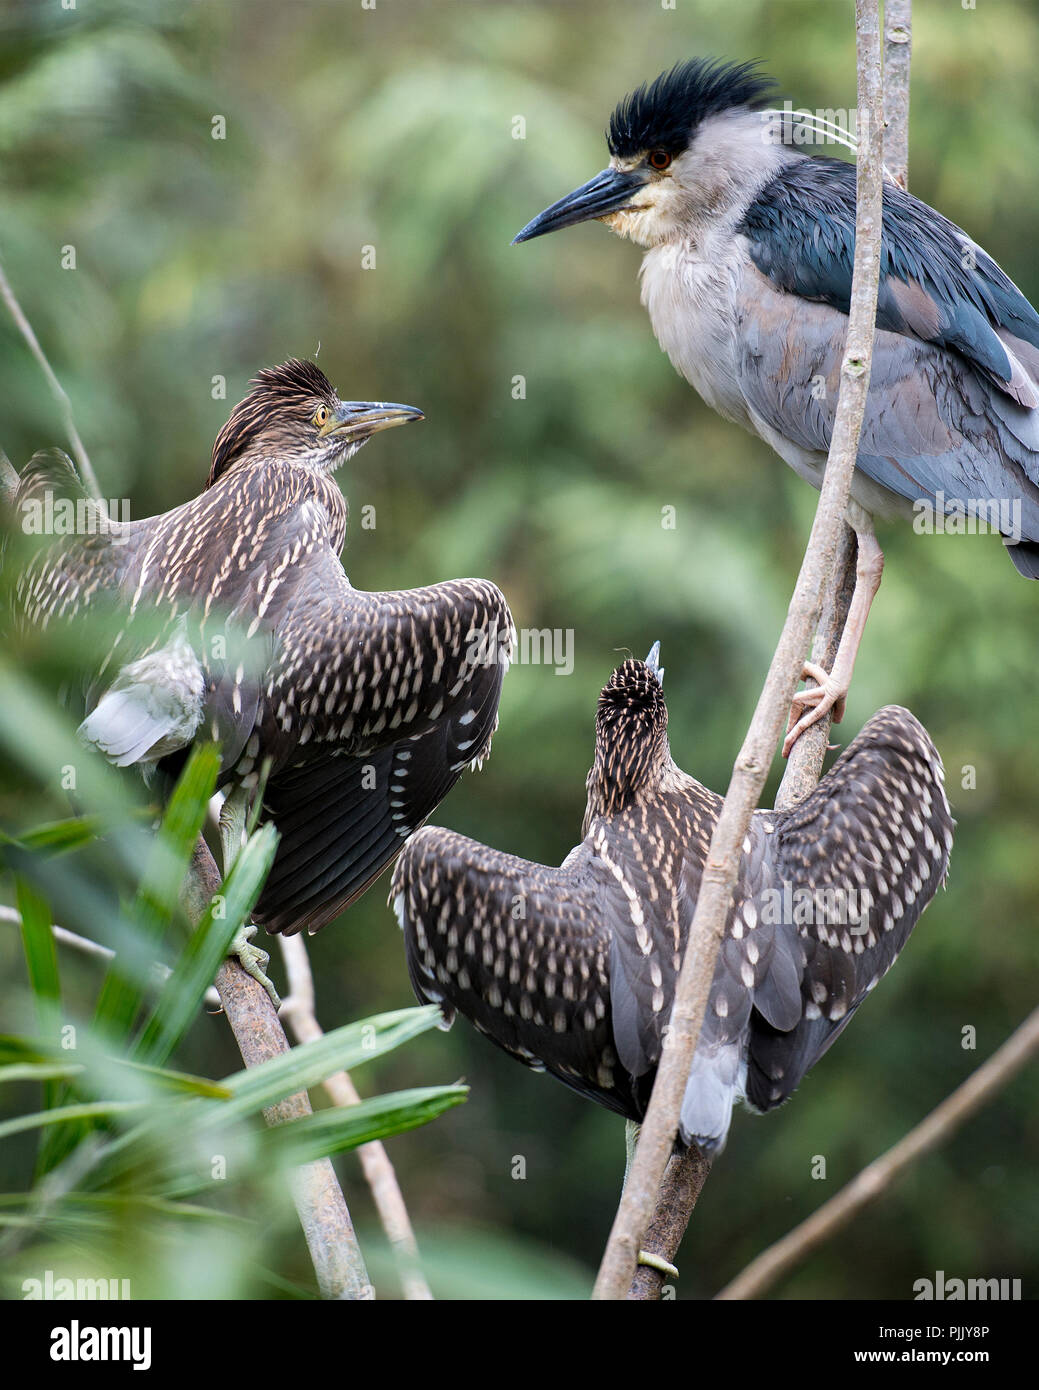
M 281 840 L 255 920 L 316 931 L 487 755 L 512 616 L 484 580 L 353 589 L 330 552 L 295 587 L 278 639 L 256 748 L 273 760 L 263 808 Z M 236 773 L 253 771 L 246 748 Z

